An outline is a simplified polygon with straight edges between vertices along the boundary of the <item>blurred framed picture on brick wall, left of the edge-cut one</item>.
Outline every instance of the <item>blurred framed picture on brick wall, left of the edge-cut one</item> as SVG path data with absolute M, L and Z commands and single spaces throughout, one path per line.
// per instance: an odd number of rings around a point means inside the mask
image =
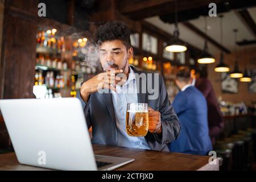
M 221 73 L 221 91 L 223 93 L 238 93 L 238 81 L 229 76 L 229 73 Z

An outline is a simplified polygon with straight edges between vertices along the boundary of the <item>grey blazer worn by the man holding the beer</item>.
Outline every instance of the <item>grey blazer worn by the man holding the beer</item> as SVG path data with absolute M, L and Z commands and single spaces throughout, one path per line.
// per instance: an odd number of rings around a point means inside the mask
M 146 73 L 138 71 L 132 67 L 134 73 Z M 146 73 L 152 74 L 152 73 Z M 154 88 L 153 81 L 147 82 L 148 77 L 137 79 L 137 90 L 142 89 L 142 84 L 139 81 L 150 84 Z M 146 79 L 146 80 L 145 80 Z M 152 85 L 151 85 L 152 84 Z M 155 100 L 148 99 L 148 96 L 152 95 L 148 93 L 138 93 L 138 102 L 147 103 L 154 110 L 158 110 L 161 113 L 162 122 L 162 135 L 152 134 L 148 131 L 145 139 L 148 146 L 152 150 L 157 151 L 169 151 L 167 144 L 179 137 L 180 134 L 180 122 L 177 115 L 172 108 L 171 102 L 168 100 L 166 88 L 164 86 L 163 77 L 159 76 L 159 96 Z M 80 94 L 78 94 L 81 100 Z M 110 146 L 116 146 L 118 142 L 117 123 L 115 120 L 114 106 L 112 102 L 112 94 L 109 93 L 93 93 L 90 94 L 89 101 L 82 101 L 86 123 L 88 128 L 92 126 L 92 143 L 105 144 Z

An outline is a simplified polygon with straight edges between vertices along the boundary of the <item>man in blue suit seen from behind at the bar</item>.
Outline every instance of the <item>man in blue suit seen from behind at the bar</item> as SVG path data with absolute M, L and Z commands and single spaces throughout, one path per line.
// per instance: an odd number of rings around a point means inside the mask
M 180 119 L 180 137 L 168 145 L 171 152 L 206 155 L 212 150 L 207 121 L 207 102 L 204 95 L 192 86 L 191 71 L 180 67 L 175 82 L 180 92 L 173 102 Z

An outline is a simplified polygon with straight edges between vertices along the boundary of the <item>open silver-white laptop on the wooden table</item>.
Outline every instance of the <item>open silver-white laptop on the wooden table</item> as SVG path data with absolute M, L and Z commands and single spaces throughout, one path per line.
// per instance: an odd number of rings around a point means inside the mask
M 20 164 L 112 170 L 134 160 L 93 154 L 78 98 L 0 100 L 0 108 Z

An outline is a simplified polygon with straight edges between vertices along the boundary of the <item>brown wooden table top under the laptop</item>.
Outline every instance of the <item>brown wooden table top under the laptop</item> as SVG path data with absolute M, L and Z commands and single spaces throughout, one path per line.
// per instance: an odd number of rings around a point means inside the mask
M 217 171 L 217 164 L 208 163 L 209 156 L 159 152 L 136 148 L 101 146 L 93 144 L 94 154 L 133 158 L 134 162 L 115 170 L 122 171 Z M 0 170 L 48 170 L 19 164 L 14 152 L 0 155 Z

